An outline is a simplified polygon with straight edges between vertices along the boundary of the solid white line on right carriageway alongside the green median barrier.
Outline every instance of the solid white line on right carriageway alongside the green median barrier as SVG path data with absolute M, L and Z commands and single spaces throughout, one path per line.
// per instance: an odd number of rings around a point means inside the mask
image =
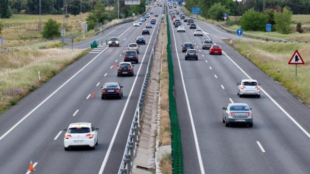
M 171 20 L 170 20 L 170 23 L 171 23 Z M 173 26 L 172 23 L 171 23 L 171 26 Z M 176 47 L 176 40 L 175 40 L 175 35 L 174 35 L 174 31 L 173 30 L 172 30 L 172 34 L 173 34 L 173 39 L 174 39 L 175 50 L 178 50 L 177 47 Z M 190 118 L 190 123 L 191 123 L 192 131 L 193 131 L 193 136 L 194 136 L 195 147 L 196 147 L 196 151 L 197 151 L 197 157 L 198 157 L 198 161 L 199 161 L 199 167 L 200 167 L 201 174 L 205 174 L 204 168 L 203 168 L 204 165 L 203 165 L 203 162 L 202 162 L 202 155 L 201 155 L 201 152 L 200 152 L 200 147 L 199 147 L 199 143 L 198 143 L 198 138 L 197 138 L 196 128 L 195 128 L 195 124 L 194 124 L 194 119 L 193 119 L 192 111 L 191 111 L 189 100 L 188 100 L 188 95 L 187 95 L 187 91 L 186 91 L 186 87 L 185 87 L 184 76 L 183 76 L 183 72 L 182 72 L 182 67 L 181 67 L 181 62 L 180 62 L 178 51 L 176 51 L 176 56 L 178 58 L 178 64 L 179 64 L 179 69 L 180 69 L 180 73 L 181 73 L 181 79 L 182 79 L 184 94 L 185 94 L 185 98 L 186 98 L 187 110 L 188 110 L 188 114 L 189 114 L 189 118 Z

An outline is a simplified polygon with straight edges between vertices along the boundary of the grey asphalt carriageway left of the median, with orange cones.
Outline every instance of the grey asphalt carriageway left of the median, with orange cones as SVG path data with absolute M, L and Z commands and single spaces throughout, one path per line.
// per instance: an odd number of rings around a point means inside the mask
M 151 11 L 160 16 L 162 7 Z M 124 60 L 125 47 L 135 43 L 143 29 L 143 26 L 132 26 L 132 22 L 115 26 L 95 36 L 119 37 L 120 47 L 93 49 L 93 53 L 65 68 L 0 116 L 0 174 L 25 174 L 31 160 L 36 169 L 31 173 L 37 174 L 118 172 L 155 40 L 153 31 L 159 25 L 156 23 L 150 29 L 151 34 L 144 35 L 147 44 L 140 45 L 135 75 L 117 77 L 117 68 L 112 65 Z M 76 45 L 89 47 L 89 44 Z M 100 87 L 107 82 L 119 82 L 124 86 L 122 100 L 101 100 Z M 95 150 L 64 151 L 63 129 L 75 122 L 91 122 L 100 129 Z

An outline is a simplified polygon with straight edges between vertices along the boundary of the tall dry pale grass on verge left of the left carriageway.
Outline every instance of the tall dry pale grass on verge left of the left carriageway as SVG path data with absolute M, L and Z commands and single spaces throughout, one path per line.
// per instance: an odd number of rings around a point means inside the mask
M 0 51 L 0 113 L 84 53 L 82 50 L 61 49 Z

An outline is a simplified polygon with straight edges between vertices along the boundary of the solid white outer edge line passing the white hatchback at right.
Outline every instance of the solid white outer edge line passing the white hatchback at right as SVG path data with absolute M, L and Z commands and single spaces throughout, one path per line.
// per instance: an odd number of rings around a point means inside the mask
M 224 51 L 222 52 L 227 58 L 229 58 L 234 65 L 236 65 L 236 67 L 242 72 L 244 73 L 249 79 L 252 79 L 245 71 L 243 71 L 242 68 L 240 68 L 240 66 L 238 64 L 236 64 L 232 58 L 230 58 Z M 310 133 L 307 132 L 289 113 L 287 113 L 282 106 L 279 105 L 278 102 L 276 102 L 262 87 L 261 87 L 261 91 L 263 91 L 263 93 L 276 105 L 278 106 L 278 108 L 287 116 L 289 117 L 293 123 L 301 130 L 303 131 L 309 138 L 310 138 Z

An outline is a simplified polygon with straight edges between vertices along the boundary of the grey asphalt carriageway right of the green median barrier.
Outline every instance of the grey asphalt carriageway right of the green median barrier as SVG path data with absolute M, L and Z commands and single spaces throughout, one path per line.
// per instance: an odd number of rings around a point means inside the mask
M 170 20 L 184 174 L 309 174 L 310 108 L 222 41 L 236 35 L 195 23 L 204 36 L 193 36 L 194 29 L 186 24 L 186 32 L 178 33 Z M 208 37 L 223 55 L 202 50 Z M 194 43 L 198 61 L 185 60 L 185 42 Z M 261 84 L 261 98 L 237 95 L 236 83 L 248 78 Z M 230 102 L 248 103 L 253 128 L 225 127 L 222 107 Z

